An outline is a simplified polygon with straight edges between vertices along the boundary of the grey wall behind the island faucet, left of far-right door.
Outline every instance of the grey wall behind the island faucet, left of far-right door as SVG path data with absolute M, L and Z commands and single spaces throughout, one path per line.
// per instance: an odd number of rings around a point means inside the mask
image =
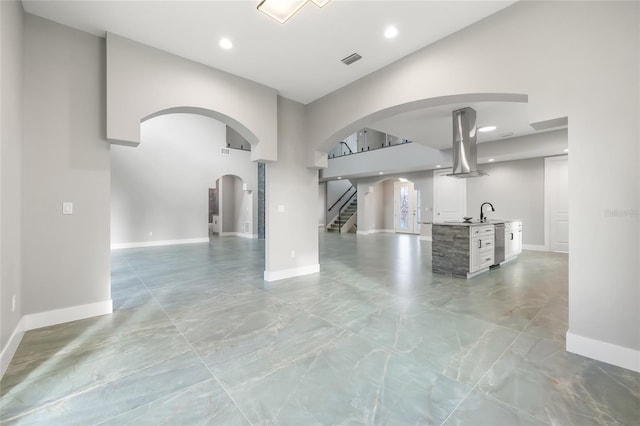
M 482 164 L 489 173 L 467 179 L 467 215 L 480 217 L 480 205 L 490 219 L 522 219 L 522 243 L 545 245 L 544 241 L 544 158 Z

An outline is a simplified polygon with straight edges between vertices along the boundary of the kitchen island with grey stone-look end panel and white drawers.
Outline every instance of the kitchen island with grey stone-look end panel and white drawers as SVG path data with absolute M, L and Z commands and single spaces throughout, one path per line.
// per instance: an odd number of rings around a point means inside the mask
M 519 220 L 434 223 L 432 236 L 433 272 L 455 277 L 474 277 L 522 251 Z

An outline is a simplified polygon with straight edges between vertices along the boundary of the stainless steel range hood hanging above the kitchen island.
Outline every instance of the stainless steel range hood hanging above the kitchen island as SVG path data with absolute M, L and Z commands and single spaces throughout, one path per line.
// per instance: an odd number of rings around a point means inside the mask
M 487 175 L 484 170 L 477 170 L 477 139 L 476 111 L 469 107 L 453 111 L 453 173 L 447 176 L 470 178 Z

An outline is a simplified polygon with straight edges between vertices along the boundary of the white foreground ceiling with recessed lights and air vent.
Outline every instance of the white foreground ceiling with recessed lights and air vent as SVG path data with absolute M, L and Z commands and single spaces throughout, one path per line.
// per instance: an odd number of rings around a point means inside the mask
M 307 104 L 505 7 L 498 1 L 333 0 L 285 24 L 258 0 L 23 0 L 26 12 L 103 37 L 112 32 L 276 89 Z M 399 34 L 385 39 L 394 25 Z M 226 37 L 233 49 L 218 42 Z M 352 65 L 340 60 L 354 52 Z M 407 117 L 409 119 L 409 117 Z

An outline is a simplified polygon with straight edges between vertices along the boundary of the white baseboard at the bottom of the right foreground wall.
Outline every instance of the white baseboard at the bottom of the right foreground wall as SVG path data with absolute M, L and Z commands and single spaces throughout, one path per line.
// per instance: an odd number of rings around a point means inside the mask
M 640 350 L 579 336 L 567 331 L 567 352 L 640 373 Z

